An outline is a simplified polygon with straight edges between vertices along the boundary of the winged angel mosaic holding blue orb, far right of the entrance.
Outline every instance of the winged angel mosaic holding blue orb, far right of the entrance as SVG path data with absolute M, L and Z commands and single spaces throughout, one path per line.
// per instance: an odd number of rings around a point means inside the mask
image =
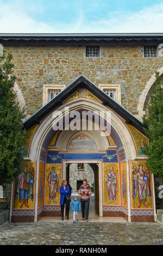
M 136 197 L 137 193 L 139 198 L 138 208 L 140 208 L 142 204 L 148 207 L 148 205 L 146 204 L 147 198 L 151 197 L 149 170 L 147 168 L 143 170 L 143 164 L 139 164 L 138 168 L 136 168 L 136 166 L 133 166 L 131 176 L 133 182 L 133 199 Z

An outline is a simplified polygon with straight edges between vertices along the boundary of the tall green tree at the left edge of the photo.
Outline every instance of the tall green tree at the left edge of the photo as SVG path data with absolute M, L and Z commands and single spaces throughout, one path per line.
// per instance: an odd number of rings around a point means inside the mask
M 26 109 L 18 105 L 12 75 L 12 54 L 0 57 L 0 184 L 11 183 L 22 170 L 23 118 Z

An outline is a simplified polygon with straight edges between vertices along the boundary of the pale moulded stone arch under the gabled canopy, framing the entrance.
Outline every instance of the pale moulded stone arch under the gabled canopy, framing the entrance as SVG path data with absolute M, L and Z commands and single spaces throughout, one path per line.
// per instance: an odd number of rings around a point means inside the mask
M 101 103 L 95 101 L 92 102 L 92 100 L 84 98 L 79 98 L 73 102 L 67 102 L 64 105 L 61 105 L 57 110 L 64 113 L 65 106 L 70 108 L 70 112 L 77 111 L 81 108 L 92 112 L 108 111 L 108 108 L 106 108 L 104 105 L 101 105 Z M 45 137 L 48 136 L 48 133 L 52 132 L 52 124 L 54 122 L 52 115 L 53 112 L 49 113 L 47 117 L 43 119 L 42 123 L 39 125 L 34 134 L 29 150 L 29 159 L 32 161 L 37 161 L 40 159 L 40 151 Z M 58 120 L 59 119 L 55 120 L 55 122 L 57 123 Z M 136 149 L 134 147 L 134 142 L 130 132 L 128 131 L 127 126 L 123 123 L 123 121 L 113 111 L 111 111 L 111 125 L 122 141 L 124 151 L 126 153 L 126 160 L 136 159 Z

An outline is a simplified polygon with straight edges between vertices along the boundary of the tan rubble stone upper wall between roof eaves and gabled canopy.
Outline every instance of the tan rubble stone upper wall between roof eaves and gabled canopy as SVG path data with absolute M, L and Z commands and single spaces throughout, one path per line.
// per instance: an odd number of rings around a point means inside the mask
M 122 105 L 137 114 L 137 103 L 145 84 L 163 65 L 163 57 L 143 57 L 140 43 L 123 46 L 99 43 L 101 57 L 96 58 L 85 57 L 85 42 L 80 45 L 77 42 L 47 45 L 46 42 L 46 46 L 38 42 L 1 43 L 14 56 L 14 74 L 29 115 L 42 106 L 43 84 L 49 84 L 49 76 L 53 84 L 67 86 L 82 74 L 97 86 L 99 83 L 121 84 Z

